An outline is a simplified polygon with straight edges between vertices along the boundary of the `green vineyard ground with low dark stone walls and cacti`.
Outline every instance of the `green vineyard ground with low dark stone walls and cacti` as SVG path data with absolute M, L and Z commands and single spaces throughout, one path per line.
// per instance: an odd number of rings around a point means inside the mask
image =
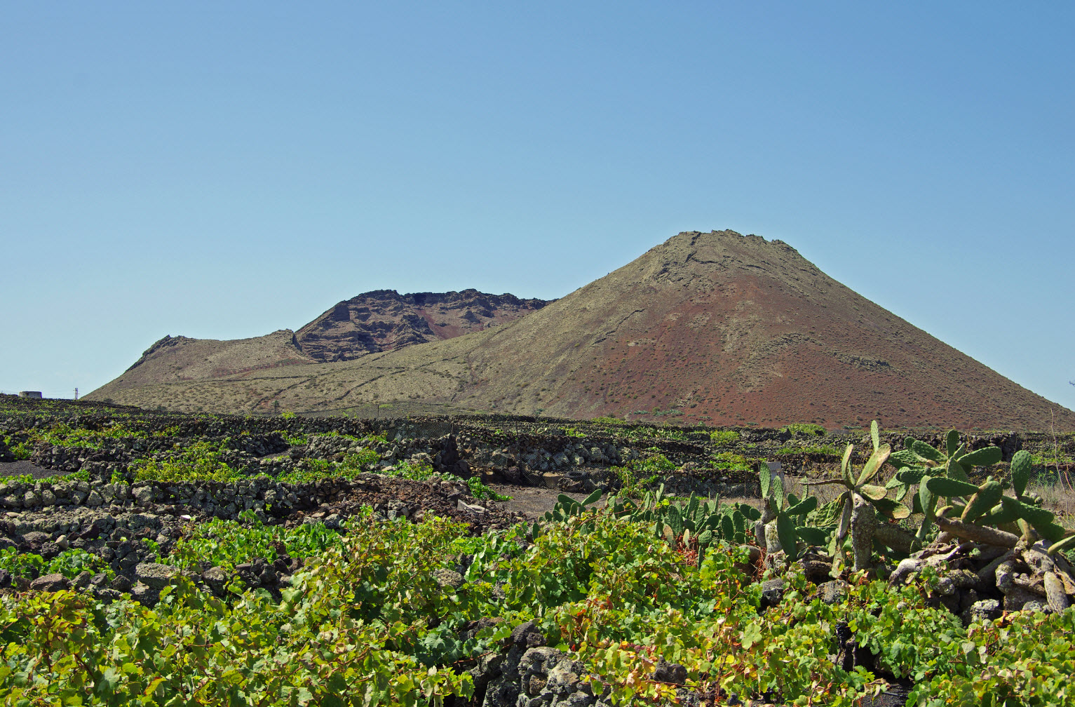
M 1075 705 L 1073 452 L 2 396 L 0 694 Z

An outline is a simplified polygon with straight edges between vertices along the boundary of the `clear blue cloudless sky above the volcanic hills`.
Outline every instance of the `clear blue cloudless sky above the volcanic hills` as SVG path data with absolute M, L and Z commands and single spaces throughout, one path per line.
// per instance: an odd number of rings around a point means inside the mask
M 1075 408 L 1075 5 L 0 1 L 0 389 L 780 239 Z

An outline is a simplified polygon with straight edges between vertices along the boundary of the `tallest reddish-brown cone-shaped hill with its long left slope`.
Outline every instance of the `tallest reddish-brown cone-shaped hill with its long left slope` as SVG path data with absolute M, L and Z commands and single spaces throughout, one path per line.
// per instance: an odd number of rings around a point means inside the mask
M 878 418 L 1040 430 L 1054 410 L 1058 429 L 1075 429 L 1071 410 L 836 283 L 787 244 L 733 231 L 680 233 L 494 329 L 226 380 L 105 388 L 116 402 L 146 404 L 204 395 L 204 386 L 228 390 L 233 412 L 421 403 L 714 424 Z

